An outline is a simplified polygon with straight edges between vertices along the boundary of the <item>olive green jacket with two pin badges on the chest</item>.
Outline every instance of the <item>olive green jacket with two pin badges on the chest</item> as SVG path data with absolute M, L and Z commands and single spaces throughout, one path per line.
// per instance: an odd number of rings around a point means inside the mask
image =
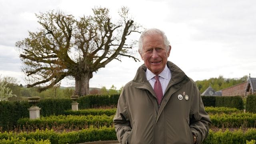
M 172 62 L 167 66 L 172 78 L 160 108 L 144 64 L 124 86 L 114 116 L 121 144 L 193 144 L 193 133 L 200 144 L 208 135 L 211 121 L 195 82 Z

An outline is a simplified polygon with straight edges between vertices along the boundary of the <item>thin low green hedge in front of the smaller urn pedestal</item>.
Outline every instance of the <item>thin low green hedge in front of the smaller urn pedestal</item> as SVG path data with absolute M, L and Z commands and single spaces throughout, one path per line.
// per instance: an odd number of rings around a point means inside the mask
M 112 116 L 114 114 L 116 114 L 116 108 L 110 108 L 110 109 L 103 109 L 103 108 L 99 108 L 99 109 L 84 109 L 84 110 L 78 110 L 78 111 L 74 111 L 74 110 L 66 110 L 64 112 L 64 115 L 103 115 L 106 114 L 107 116 Z

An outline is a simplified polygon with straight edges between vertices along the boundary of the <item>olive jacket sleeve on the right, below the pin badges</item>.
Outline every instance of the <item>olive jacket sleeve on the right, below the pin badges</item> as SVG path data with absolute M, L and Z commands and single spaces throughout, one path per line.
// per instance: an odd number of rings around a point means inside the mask
M 208 136 L 209 126 L 212 122 L 204 110 L 204 104 L 198 88 L 196 87 L 195 89 L 190 111 L 190 130 L 197 137 L 197 144 L 201 144 Z

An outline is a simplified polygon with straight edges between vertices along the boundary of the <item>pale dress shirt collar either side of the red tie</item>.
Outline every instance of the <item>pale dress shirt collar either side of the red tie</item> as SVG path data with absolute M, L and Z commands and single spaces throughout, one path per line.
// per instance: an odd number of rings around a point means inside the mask
M 148 80 L 148 82 L 150 83 L 150 85 L 152 86 L 152 88 L 154 89 L 154 84 L 156 82 L 155 79 L 156 74 L 154 74 L 153 72 L 151 72 L 150 70 L 146 70 L 146 78 Z M 162 86 L 162 90 L 163 90 L 163 95 L 166 91 L 167 85 L 170 82 L 172 75 L 171 75 L 171 71 L 170 69 L 167 67 L 167 65 L 165 65 L 164 70 L 158 74 L 159 76 L 159 80 L 161 82 L 161 86 Z

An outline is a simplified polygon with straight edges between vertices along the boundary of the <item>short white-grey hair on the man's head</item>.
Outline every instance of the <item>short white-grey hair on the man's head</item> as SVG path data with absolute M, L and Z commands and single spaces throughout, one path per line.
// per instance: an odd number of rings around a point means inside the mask
M 139 53 L 142 52 L 142 48 L 143 48 L 143 40 L 146 36 L 152 36 L 152 35 L 160 35 L 163 37 L 164 39 L 164 45 L 166 46 L 166 51 L 168 52 L 170 50 L 170 42 L 167 39 L 165 33 L 162 30 L 159 30 L 157 28 L 149 28 L 146 29 L 144 32 L 142 32 L 140 39 L 139 39 L 139 48 L 138 51 Z

